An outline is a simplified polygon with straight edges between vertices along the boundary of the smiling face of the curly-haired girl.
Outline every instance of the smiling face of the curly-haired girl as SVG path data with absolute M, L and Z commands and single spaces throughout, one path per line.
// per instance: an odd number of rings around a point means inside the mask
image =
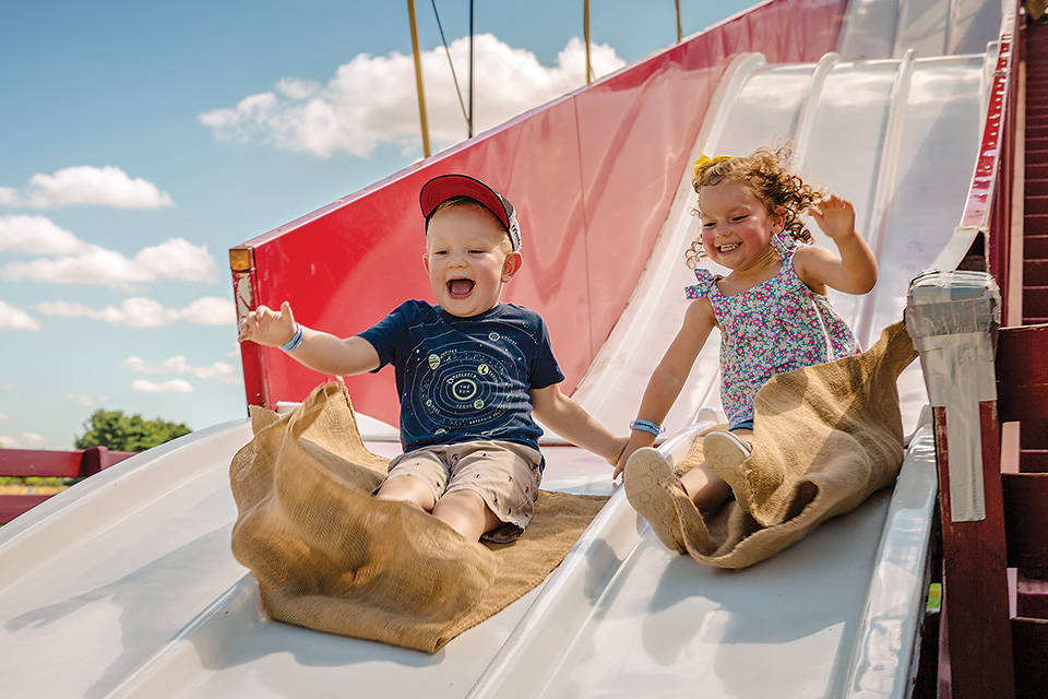
M 702 249 L 722 266 L 745 272 L 758 266 L 783 229 L 782 215 L 770 214 L 747 185 L 724 180 L 699 190 Z

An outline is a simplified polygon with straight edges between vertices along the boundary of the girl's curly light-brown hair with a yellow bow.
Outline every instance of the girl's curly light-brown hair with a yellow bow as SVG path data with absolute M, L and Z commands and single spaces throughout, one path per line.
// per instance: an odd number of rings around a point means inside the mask
M 733 157 L 714 162 L 707 167 L 698 167 L 695 178 L 691 185 L 695 193 L 703 187 L 712 187 L 724 181 L 741 182 L 750 188 L 753 194 L 764 204 L 767 212 L 785 212 L 786 233 L 795 240 L 813 242 L 811 233 L 800 221 L 808 206 L 822 199 L 824 189 L 815 189 L 806 185 L 800 176 L 790 169 L 793 149 L 782 145 L 775 150 L 761 147 L 741 157 Z M 715 158 L 716 159 L 716 158 Z M 692 213 L 699 215 L 696 203 Z M 684 252 L 688 266 L 694 269 L 700 260 L 706 257 L 702 249 L 702 234 L 692 240 Z

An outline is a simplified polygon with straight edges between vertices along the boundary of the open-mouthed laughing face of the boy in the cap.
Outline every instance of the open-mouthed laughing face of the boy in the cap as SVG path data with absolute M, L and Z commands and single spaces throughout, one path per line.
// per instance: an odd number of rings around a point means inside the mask
M 452 316 L 495 308 L 522 261 L 495 215 L 479 205 L 452 204 L 429 220 L 422 264 L 437 303 Z

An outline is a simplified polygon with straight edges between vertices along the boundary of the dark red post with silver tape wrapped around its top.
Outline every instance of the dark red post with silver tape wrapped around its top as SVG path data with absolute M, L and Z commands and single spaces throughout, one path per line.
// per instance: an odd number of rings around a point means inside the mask
M 906 304 L 934 415 L 948 653 L 940 689 L 953 699 L 1015 696 L 993 365 L 1000 312 L 997 283 L 982 272 L 926 272 Z

